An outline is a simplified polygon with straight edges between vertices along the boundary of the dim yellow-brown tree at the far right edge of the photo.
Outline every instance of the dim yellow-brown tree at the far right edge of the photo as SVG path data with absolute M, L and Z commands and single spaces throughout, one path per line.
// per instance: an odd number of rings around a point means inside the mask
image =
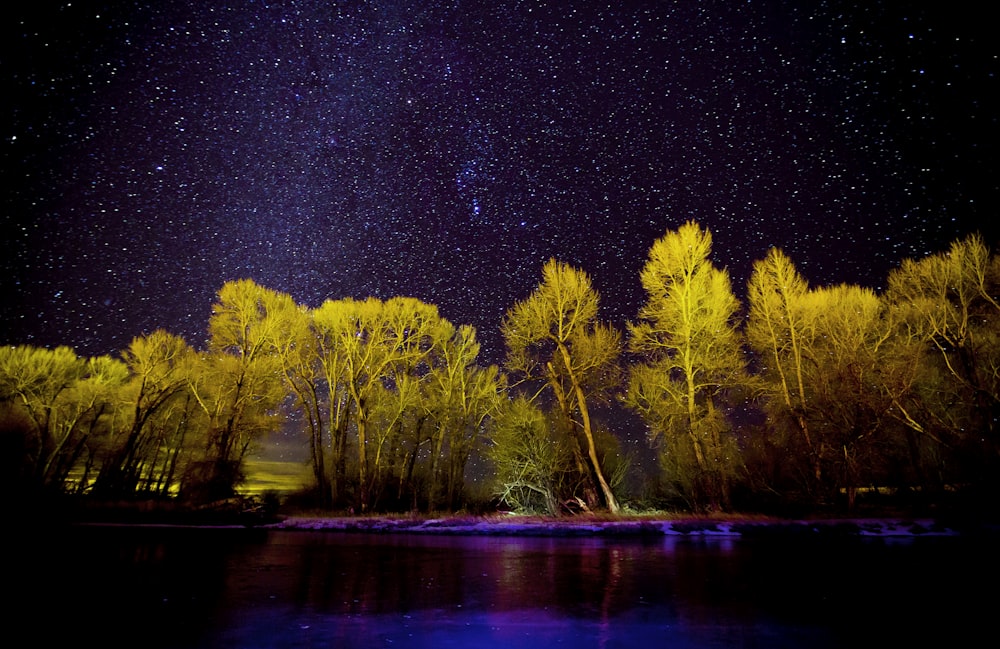
M 920 440 L 948 451 L 965 475 L 992 479 L 1000 463 L 1000 258 L 979 235 L 945 253 L 908 259 L 886 299 L 919 369 L 894 394 L 894 414 Z

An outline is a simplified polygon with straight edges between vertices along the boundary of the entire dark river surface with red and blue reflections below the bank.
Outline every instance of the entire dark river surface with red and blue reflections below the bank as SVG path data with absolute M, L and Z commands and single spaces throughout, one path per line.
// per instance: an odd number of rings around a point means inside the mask
M 992 548 L 57 528 L 8 552 L 6 626 L 141 649 L 961 646 L 992 634 Z

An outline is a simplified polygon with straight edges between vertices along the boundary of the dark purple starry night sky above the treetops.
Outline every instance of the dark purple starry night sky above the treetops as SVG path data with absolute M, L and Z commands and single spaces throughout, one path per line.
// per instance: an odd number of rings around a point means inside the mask
M 0 343 L 204 344 L 222 284 L 499 325 L 550 257 L 622 326 L 694 219 L 742 295 L 996 244 L 987 4 L 35 0 L 0 55 Z

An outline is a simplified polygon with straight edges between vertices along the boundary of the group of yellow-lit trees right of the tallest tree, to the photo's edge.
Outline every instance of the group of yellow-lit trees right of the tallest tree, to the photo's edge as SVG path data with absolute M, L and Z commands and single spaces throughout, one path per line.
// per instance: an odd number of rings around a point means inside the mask
M 873 485 L 926 494 L 989 480 L 997 268 L 979 237 L 904 262 L 884 296 L 808 289 L 778 251 L 755 265 L 747 331 L 764 406 L 814 502 L 839 493 L 851 506 L 858 487 Z

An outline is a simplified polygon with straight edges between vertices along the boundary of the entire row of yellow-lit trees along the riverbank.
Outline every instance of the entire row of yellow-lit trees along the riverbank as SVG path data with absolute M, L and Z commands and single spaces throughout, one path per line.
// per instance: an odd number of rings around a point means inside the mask
M 316 506 L 557 514 L 854 504 L 861 491 L 995 493 L 1000 262 L 981 237 L 905 261 L 877 294 L 810 287 L 780 250 L 745 305 L 689 222 L 652 246 L 621 332 L 582 270 L 550 261 L 501 325 L 476 332 L 413 298 L 310 309 L 250 280 L 219 291 L 208 344 L 164 331 L 120 358 L 0 349 L 5 491 L 104 499 L 236 493 L 244 461 L 294 422 Z M 636 413 L 661 468 L 637 490 L 607 405 Z M 482 457 L 489 489 L 470 491 Z M 484 495 L 485 494 L 485 495 Z

